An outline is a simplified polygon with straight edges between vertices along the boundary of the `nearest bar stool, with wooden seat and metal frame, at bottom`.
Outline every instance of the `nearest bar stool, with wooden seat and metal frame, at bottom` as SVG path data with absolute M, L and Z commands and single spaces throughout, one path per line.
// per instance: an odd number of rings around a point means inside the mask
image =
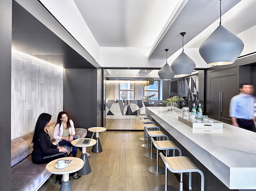
M 172 173 L 180 173 L 180 191 L 183 191 L 182 173 L 188 173 L 188 187 L 192 191 L 191 175 L 192 172 L 198 172 L 201 175 L 201 191 L 204 191 L 204 173 L 188 157 L 164 157 L 163 153 L 160 153 L 160 156 L 165 164 L 165 184 L 155 187 L 155 191 L 176 190 L 167 185 L 167 168 Z

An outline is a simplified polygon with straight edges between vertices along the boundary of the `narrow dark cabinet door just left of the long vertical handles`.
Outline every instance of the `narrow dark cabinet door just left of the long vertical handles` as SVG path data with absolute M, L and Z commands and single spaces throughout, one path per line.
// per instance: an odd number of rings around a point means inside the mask
M 220 120 L 221 77 L 211 79 L 210 118 Z

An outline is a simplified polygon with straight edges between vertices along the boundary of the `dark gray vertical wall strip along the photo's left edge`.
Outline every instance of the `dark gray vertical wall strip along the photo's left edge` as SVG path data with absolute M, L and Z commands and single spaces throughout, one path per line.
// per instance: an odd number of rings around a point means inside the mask
M 11 190 L 12 1 L 0 1 L 0 190 Z

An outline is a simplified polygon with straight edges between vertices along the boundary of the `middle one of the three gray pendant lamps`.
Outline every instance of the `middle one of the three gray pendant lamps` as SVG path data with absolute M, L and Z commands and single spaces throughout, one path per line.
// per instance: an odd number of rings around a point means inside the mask
M 172 62 L 172 71 L 179 76 L 190 75 L 196 68 L 196 63 L 184 53 L 184 35 L 185 32 L 180 33 L 182 36 L 182 53 Z

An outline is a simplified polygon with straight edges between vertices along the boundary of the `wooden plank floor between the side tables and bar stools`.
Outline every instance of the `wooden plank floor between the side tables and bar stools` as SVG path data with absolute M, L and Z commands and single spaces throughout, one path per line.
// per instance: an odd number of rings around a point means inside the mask
M 154 191 L 157 185 L 164 184 L 164 174 L 155 175 L 148 171 L 149 166 L 156 165 L 156 159 L 144 157 L 150 149 L 141 147 L 139 140 L 143 132 L 136 131 L 105 131 L 100 134 L 103 152 L 92 153 L 91 147 L 87 149 L 93 156 L 89 158 L 92 172 L 83 175 L 80 179 L 70 182 L 73 191 Z M 156 148 L 153 148 L 156 152 Z M 77 151 L 80 157 L 81 152 Z M 159 158 L 159 166 L 164 163 Z M 39 191 L 59 191 L 60 185 L 55 184 L 52 176 L 44 183 Z M 168 185 L 179 190 L 179 182 L 173 173 L 168 171 Z

